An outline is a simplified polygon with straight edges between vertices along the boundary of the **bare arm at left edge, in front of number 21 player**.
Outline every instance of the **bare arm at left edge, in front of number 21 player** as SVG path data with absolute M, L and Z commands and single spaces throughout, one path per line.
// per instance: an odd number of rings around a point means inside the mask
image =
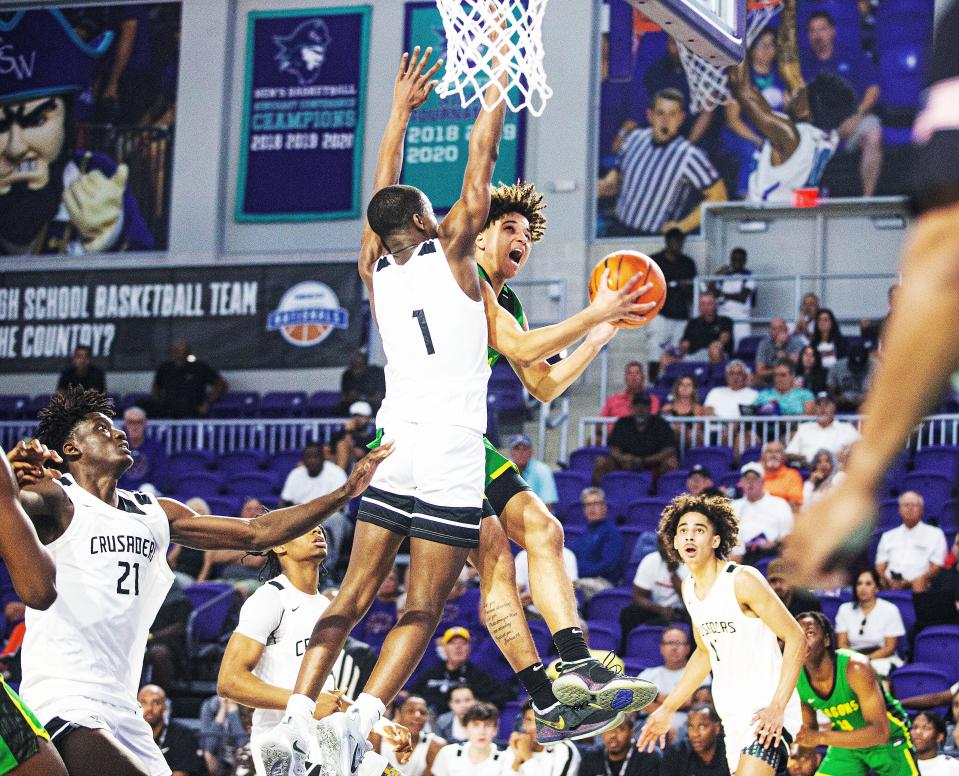
M 20 600 L 31 609 L 47 609 L 57 598 L 57 570 L 20 505 L 19 491 L 0 450 L 0 557 Z

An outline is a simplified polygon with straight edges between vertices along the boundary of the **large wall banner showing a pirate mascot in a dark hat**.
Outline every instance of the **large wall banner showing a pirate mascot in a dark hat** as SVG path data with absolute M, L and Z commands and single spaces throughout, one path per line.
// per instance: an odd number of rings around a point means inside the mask
M 166 248 L 180 11 L 0 12 L 0 256 Z

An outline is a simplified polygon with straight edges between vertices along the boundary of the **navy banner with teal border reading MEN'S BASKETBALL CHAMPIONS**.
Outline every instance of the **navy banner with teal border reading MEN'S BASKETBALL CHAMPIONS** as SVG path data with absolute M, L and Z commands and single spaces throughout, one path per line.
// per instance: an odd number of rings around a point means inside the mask
M 370 7 L 251 11 L 237 221 L 360 214 Z

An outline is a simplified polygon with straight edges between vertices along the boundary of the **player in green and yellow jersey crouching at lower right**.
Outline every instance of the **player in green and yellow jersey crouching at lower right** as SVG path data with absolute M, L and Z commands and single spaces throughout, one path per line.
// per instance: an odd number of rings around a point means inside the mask
M 836 634 L 822 612 L 799 615 L 807 653 L 796 689 L 803 727 L 796 744 L 828 746 L 817 773 L 826 776 L 917 776 L 909 718 L 876 679 L 869 659 L 836 649 Z M 816 712 L 832 722 L 820 730 Z

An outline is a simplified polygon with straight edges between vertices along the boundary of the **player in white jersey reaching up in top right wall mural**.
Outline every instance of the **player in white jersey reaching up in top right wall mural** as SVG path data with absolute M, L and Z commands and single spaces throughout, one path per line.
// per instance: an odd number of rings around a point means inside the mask
M 799 67 L 796 0 L 783 0 L 779 73 L 790 91 L 789 114 L 773 110 L 749 73 L 748 59 L 729 68 L 729 86 L 765 138 L 749 175 L 750 202 L 792 204 L 793 189 L 818 186 L 839 145 L 840 124 L 856 111 L 856 94 L 839 76 L 820 73 L 807 84 Z

